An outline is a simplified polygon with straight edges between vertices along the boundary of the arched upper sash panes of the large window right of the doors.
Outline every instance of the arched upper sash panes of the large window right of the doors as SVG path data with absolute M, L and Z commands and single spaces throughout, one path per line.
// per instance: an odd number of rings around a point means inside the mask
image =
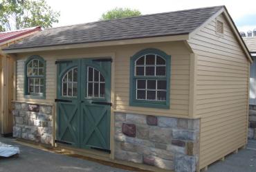
M 136 76 L 165 76 L 165 70 L 165 59 L 156 54 L 146 54 L 135 61 Z

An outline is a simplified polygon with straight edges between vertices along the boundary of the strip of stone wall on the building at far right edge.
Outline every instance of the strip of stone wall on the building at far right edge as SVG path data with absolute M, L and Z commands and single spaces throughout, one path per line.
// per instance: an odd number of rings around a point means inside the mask
M 248 138 L 256 139 L 256 105 L 250 105 Z

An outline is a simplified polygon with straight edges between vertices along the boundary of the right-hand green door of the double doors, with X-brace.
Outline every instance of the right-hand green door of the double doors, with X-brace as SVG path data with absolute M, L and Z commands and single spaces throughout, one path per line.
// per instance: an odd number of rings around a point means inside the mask
M 81 146 L 83 148 L 109 149 L 110 105 L 98 105 L 95 103 L 110 102 L 111 62 L 86 59 L 82 63 L 82 70 L 86 75 L 82 76 L 82 85 L 84 85 L 82 88 L 84 89 L 82 89 L 83 103 L 81 105 L 83 121 Z M 92 76 L 90 76 L 91 74 Z M 91 83 L 93 83 L 92 95 L 89 94 L 89 84 Z M 102 86 L 104 89 L 101 89 Z

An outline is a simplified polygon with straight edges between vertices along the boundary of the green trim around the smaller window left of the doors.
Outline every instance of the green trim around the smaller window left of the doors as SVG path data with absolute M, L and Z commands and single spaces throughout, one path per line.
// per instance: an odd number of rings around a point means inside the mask
M 42 75 L 31 75 L 28 76 L 28 63 L 30 63 L 33 60 L 37 60 L 39 62 L 41 62 L 44 66 L 43 67 L 37 67 L 38 68 L 38 72 L 39 72 L 39 68 L 43 68 L 44 69 L 44 74 Z M 33 99 L 45 99 L 46 98 L 46 61 L 44 61 L 44 58 L 42 58 L 41 56 L 38 55 L 33 55 L 30 56 L 26 59 L 25 63 L 24 63 L 24 98 L 33 98 Z M 39 82 L 41 82 L 41 78 L 44 79 L 44 84 L 43 86 L 43 91 L 42 93 L 39 94 L 32 94 L 29 93 L 28 88 L 29 88 L 29 83 L 28 80 L 29 78 L 39 78 Z M 41 84 L 39 84 L 41 86 Z M 35 87 L 35 86 L 34 86 Z

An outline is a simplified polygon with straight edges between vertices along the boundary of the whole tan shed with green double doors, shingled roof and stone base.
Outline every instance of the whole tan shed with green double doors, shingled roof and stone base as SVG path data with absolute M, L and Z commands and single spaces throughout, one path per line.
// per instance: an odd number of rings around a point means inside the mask
M 225 6 L 48 28 L 4 52 L 17 138 L 152 171 L 247 142 L 252 59 Z

